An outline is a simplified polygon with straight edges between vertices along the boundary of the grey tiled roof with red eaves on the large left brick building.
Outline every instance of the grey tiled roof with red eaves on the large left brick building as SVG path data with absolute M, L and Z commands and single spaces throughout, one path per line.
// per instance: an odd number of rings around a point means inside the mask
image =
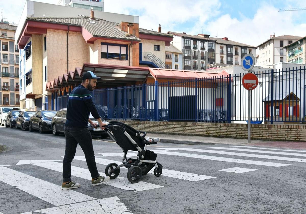
M 41 18 L 41 17 L 31 17 L 28 20 L 48 22 L 55 24 L 70 24 L 74 26 L 80 26 L 85 28 L 93 36 L 97 37 L 107 37 L 107 38 L 116 38 L 116 39 L 127 39 L 140 41 L 134 35 L 127 35 L 125 31 L 120 31 L 115 22 L 106 21 L 103 19 L 91 20 L 89 17 L 78 17 L 78 18 Z

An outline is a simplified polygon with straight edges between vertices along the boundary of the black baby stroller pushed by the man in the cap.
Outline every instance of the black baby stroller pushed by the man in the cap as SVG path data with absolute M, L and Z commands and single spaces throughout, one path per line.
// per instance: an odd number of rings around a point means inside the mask
M 120 173 L 120 167 L 124 166 L 129 169 L 127 174 L 129 182 L 137 183 L 141 176 L 146 175 L 155 164 L 157 164 L 157 167 L 154 169 L 154 175 L 159 177 L 162 174 L 162 164 L 156 161 L 157 154 L 147 150 L 148 145 L 156 144 L 156 142 L 149 142 L 145 138 L 146 132 L 137 131 L 129 125 L 118 121 L 111 121 L 104 127 L 108 135 L 113 138 L 124 152 L 122 164 L 110 163 L 106 166 L 106 176 L 110 176 L 110 179 L 117 178 Z M 136 159 L 127 159 L 128 150 L 138 151 L 138 157 Z

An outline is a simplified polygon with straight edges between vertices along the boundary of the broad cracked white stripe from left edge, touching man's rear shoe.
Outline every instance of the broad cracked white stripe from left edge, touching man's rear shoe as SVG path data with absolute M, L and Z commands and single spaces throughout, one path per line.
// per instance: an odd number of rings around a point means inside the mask
M 73 190 L 63 191 L 61 186 L 6 167 L 0 167 L 0 181 L 55 206 L 96 199 Z

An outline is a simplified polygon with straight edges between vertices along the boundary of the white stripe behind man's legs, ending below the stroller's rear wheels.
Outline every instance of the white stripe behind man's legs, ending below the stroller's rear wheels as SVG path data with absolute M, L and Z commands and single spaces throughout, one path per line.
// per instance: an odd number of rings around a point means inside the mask
M 96 158 L 96 163 L 98 163 L 97 159 L 99 158 Z M 86 159 L 78 159 L 78 160 L 86 161 Z M 33 164 L 33 165 L 44 167 L 50 170 L 54 170 L 56 172 L 63 172 L 63 169 L 62 169 L 63 164 L 58 163 L 58 162 L 38 163 L 38 164 Z M 88 169 L 85 169 L 85 168 L 71 166 L 71 175 L 91 181 L 90 172 Z M 106 176 L 102 172 L 100 172 L 100 175 Z M 160 185 L 147 183 L 144 181 L 139 181 L 138 183 L 130 183 L 127 178 L 123 178 L 123 177 L 117 177 L 116 179 L 111 179 L 109 182 L 105 184 L 109 186 L 120 188 L 122 190 L 135 190 L 135 191 L 151 190 L 151 189 L 163 187 Z

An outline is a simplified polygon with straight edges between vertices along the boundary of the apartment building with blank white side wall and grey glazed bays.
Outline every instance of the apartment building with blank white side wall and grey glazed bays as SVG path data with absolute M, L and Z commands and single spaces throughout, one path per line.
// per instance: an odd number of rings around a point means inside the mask
M 206 70 L 208 64 L 215 63 L 215 42 L 207 34 L 190 35 L 177 32 L 168 33 L 174 36 L 173 46 L 183 53 L 184 70 Z

